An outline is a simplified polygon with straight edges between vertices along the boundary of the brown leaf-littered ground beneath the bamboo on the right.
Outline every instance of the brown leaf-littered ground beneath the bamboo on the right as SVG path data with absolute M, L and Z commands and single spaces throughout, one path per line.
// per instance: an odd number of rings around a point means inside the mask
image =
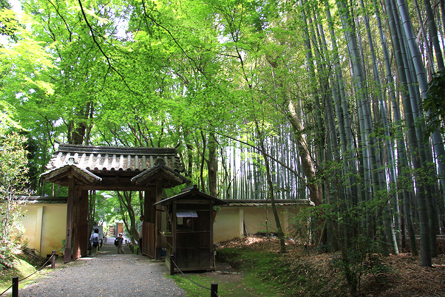
M 282 254 L 279 253 L 279 241 L 276 238 L 268 240 L 266 237 L 250 236 L 221 242 L 217 247 L 217 260 L 228 262 L 230 266 L 225 264 L 224 268 L 224 263 L 217 263 L 217 269 L 226 269 L 226 279 L 231 277 L 233 282 L 242 283 L 248 264 L 256 277 L 277 291 L 276 295 L 249 296 L 349 296 L 341 266 L 336 264 L 339 263 L 338 253 L 321 253 L 311 251 L 311 248 L 308 251 L 304 245 L 294 241 L 287 241 L 286 244 L 288 252 Z M 251 258 L 253 254 L 258 255 L 257 258 Z M 262 267 L 267 265 L 262 261 L 268 255 L 276 258 L 270 267 Z M 411 253 L 366 261 L 365 258 L 362 267 L 366 269 L 359 278 L 357 296 L 445 297 L 444 254 L 433 258 L 432 267 L 420 266 L 419 256 Z M 241 272 L 241 276 L 232 274 L 234 271 Z

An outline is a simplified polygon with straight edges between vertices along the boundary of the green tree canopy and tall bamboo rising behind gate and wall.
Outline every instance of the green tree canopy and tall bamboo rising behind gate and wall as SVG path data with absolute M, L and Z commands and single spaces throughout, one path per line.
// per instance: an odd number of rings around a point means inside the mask
M 308 198 L 316 244 L 346 258 L 410 249 L 431 266 L 445 222 L 443 0 L 21 5 L 3 18 L 21 25 L 1 31 L 0 94 L 34 179 L 54 139 L 177 146 L 211 195 Z

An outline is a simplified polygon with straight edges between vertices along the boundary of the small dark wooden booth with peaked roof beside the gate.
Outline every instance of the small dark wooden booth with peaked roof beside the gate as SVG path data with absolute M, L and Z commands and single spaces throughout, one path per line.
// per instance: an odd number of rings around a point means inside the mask
M 155 203 L 167 216 L 166 264 L 174 256 L 174 271 L 215 270 L 213 247 L 214 205 L 227 202 L 200 192 L 196 185 Z

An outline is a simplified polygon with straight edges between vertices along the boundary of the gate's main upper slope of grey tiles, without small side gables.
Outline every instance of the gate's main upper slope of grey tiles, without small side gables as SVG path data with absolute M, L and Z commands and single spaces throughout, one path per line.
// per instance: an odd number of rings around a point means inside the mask
M 166 167 L 184 171 L 176 148 L 132 148 L 59 144 L 47 169 L 75 164 L 90 172 L 145 171 L 152 168 L 156 159 L 162 158 Z

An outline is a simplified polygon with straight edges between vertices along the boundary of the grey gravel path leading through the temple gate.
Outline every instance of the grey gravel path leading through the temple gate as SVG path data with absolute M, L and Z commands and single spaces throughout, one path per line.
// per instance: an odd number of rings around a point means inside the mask
M 185 297 L 176 283 L 165 277 L 164 261 L 146 256 L 118 255 L 109 239 L 91 257 L 63 264 L 58 260 L 54 271 L 40 277 L 24 289 L 20 297 Z

